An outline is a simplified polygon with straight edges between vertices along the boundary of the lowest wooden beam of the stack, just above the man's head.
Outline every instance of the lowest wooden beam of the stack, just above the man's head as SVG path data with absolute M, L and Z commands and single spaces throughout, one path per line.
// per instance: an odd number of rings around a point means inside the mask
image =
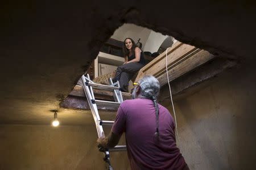
M 182 76 L 183 74 L 191 71 L 192 69 L 195 69 L 196 67 L 199 67 L 200 65 L 213 59 L 213 57 L 214 56 L 212 54 L 204 50 L 201 50 L 195 53 L 195 55 L 192 55 L 186 58 L 181 63 L 176 65 L 174 64 L 174 67 L 168 68 L 169 80 L 172 81 L 175 78 Z M 159 77 L 156 77 L 156 78 L 158 78 L 160 86 L 163 86 L 168 83 L 166 72 L 164 72 L 163 74 L 161 74 Z

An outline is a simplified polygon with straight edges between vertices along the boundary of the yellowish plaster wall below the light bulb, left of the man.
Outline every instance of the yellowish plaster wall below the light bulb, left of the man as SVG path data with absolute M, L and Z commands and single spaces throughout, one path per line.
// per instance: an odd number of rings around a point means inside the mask
M 0 169 L 106 169 L 94 125 L 1 125 L 0 136 Z M 129 169 L 126 152 L 111 158 L 115 169 Z

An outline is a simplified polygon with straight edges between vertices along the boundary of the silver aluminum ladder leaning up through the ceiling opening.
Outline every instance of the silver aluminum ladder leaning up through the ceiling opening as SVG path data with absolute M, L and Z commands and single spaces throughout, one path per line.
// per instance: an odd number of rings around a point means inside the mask
M 115 82 L 113 84 L 112 78 L 109 78 L 110 85 L 102 85 L 97 84 L 90 80 L 89 74 L 85 77 L 82 75 L 82 87 L 84 89 L 85 96 L 88 100 L 90 110 L 92 111 L 93 119 L 97 128 L 98 138 L 105 137 L 104 130 L 102 126 L 112 126 L 114 121 L 103 121 L 98 114 L 97 105 L 101 106 L 114 106 L 116 108 L 123 102 L 122 92 L 120 90 L 119 82 Z M 95 99 L 93 88 L 97 89 L 104 89 L 104 90 L 113 90 L 114 102 L 112 101 L 103 101 Z M 113 170 L 112 165 L 110 163 L 110 151 L 125 151 L 126 146 L 115 146 L 114 148 L 109 148 L 108 150 L 104 151 L 104 160 L 108 163 L 109 170 Z

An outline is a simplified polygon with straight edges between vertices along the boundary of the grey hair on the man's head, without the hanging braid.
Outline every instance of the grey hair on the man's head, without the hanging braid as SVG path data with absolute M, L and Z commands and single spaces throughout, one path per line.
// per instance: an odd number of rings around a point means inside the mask
M 141 87 L 142 98 L 156 99 L 158 97 L 160 84 L 154 76 L 144 76 L 138 83 Z

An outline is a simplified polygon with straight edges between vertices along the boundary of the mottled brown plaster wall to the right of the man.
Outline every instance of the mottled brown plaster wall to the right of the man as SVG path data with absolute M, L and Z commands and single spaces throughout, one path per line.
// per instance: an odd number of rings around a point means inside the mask
M 247 65 L 226 72 L 175 102 L 177 143 L 191 169 L 256 168 L 252 70 Z

